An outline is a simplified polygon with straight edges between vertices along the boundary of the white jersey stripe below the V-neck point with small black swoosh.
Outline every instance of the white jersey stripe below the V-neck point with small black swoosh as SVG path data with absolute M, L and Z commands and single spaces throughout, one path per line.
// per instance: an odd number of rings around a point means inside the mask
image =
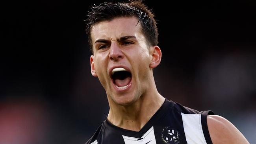
M 152 126 L 142 137 L 141 140 L 135 137 L 127 137 L 122 135 L 125 144 L 156 144 L 154 127 Z

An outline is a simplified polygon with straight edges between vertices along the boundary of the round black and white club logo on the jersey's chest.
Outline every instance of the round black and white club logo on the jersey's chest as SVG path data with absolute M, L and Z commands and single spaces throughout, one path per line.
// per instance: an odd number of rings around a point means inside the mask
M 161 133 L 161 140 L 165 144 L 179 144 L 180 143 L 180 134 L 176 129 L 171 127 L 163 128 Z

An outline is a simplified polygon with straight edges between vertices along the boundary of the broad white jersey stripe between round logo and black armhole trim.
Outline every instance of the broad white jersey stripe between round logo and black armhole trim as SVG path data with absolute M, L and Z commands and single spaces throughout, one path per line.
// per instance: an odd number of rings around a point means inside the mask
M 182 122 L 187 144 L 206 144 L 201 123 L 201 114 L 184 114 Z

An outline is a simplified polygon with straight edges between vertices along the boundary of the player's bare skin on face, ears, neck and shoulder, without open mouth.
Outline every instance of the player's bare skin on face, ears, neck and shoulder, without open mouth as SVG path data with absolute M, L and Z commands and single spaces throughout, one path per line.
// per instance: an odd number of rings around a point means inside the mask
M 153 68 L 161 61 L 158 46 L 149 46 L 135 17 L 114 18 L 91 28 L 94 54 L 90 57 L 91 74 L 98 77 L 109 102 L 108 120 L 123 129 L 139 131 L 161 107 L 165 98 L 158 93 Z M 125 90 L 115 88 L 109 72 L 122 67 L 132 74 Z M 228 120 L 208 116 L 213 144 L 248 144 Z

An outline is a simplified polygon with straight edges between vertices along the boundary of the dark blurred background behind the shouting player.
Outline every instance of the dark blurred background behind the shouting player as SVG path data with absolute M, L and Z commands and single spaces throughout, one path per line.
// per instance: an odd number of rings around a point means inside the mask
M 1 2 L 0 144 L 84 144 L 106 118 L 83 22 L 100 2 Z M 145 4 L 158 20 L 160 94 L 224 116 L 256 143 L 256 2 Z

